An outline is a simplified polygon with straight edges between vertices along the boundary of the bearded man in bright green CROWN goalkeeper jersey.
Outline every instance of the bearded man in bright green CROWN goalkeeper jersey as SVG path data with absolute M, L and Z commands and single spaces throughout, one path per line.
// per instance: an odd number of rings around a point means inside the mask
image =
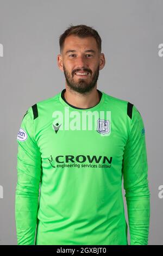
M 104 65 L 92 27 L 60 36 L 66 88 L 29 107 L 17 135 L 18 245 L 128 245 L 122 177 L 130 245 L 148 244 L 145 127 L 132 103 L 97 89 Z

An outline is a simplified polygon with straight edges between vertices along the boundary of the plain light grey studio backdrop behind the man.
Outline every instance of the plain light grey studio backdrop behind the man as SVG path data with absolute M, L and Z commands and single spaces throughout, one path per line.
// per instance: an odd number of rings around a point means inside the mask
M 16 137 L 22 117 L 34 103 L 65 88 L 57 66 L 59 35 L 79 24 L 92 26 L 102 38 L 106 64 L 97 88 L 130 101 L 142 115 L 151 191 L 149 245 L 163 244 L 162 10 L 159 0 L 0 1 L 1 245 L 17 244 Z

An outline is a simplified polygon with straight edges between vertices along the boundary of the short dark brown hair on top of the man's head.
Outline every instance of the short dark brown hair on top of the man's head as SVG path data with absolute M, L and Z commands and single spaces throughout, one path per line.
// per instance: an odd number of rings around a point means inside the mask
M 101 37 L 99 36 L 98 32 L 95 29 L 93 29 L 93 27 L 89 27 L 86 25 L 77 25 L 77 26 L 70 25 L 66 29 L 66 31 L 59 36 L 60 53 L 64 47 L 64 42 L 68 35 L 76 35 L 76 36 L 79 36 L 80 38 L 92 36 L 93 38 L 96 39 L 98 50 L 101 53 L 101 50 L 102 50 Z

